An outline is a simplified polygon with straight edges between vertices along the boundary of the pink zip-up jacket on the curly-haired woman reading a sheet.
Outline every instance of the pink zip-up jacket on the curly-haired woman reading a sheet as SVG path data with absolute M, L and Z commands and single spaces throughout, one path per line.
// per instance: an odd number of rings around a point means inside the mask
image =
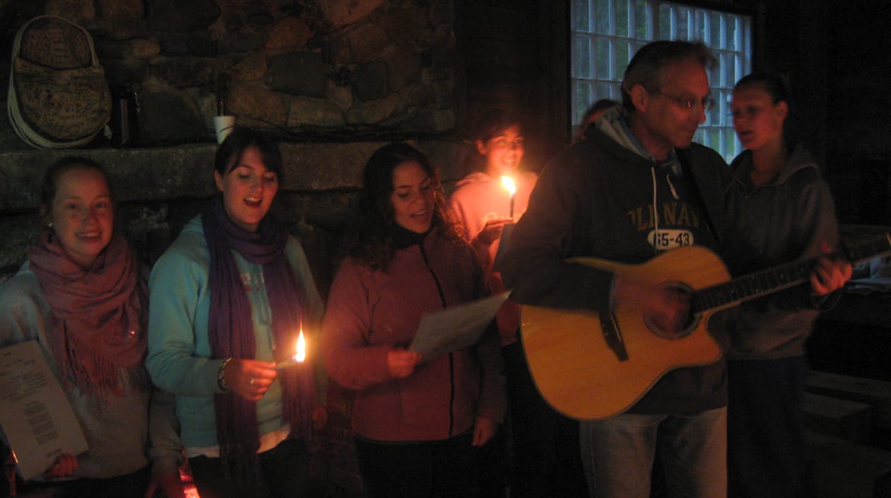
M 347 258 L 331 286 L 323 354 L 331 379 L 356 389 L 353 429 L 377 441 L 446 439 L 472 430 L 477 417 L 504 418 L 501 347 L 490 327 L 475 347 L 390 376 L 387 352 L 411 344 L 421 315 L 488 294 L 478 258 L 437 230 L 396 251 L 387 271 Z M 445 306 L 444 306 L 445 301 Z

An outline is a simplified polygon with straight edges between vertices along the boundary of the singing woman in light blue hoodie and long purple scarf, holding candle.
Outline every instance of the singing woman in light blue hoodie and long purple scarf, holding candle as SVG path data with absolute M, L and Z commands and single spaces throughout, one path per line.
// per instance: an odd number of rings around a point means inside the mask
M 146 366 L 176 395 L 201 498 L 305 496 L 327 379 L 312 352 L 274 367 L 295 354 L 299 331 L 318 331 L 322 300 L 300 244 L 268 215 L 282 181 L 278 146 L 235 130 L 215 169 L 221 193 L 151 271 Z

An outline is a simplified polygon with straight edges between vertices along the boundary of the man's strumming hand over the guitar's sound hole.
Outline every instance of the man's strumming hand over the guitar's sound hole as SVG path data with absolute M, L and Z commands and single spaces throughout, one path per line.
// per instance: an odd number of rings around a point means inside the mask
M 650 285 L 634 277 L 617 274 L 613 286 L 616 303 L 634 303 L 652 325 L 652 332 L 665 339 L 677 339 L 690 322 L 689 292 L 674 285 Z

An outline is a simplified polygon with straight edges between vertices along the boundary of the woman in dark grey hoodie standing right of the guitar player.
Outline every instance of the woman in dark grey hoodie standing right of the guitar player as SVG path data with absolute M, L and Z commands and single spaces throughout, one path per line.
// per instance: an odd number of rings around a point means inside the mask
M 746 147 L 733 160 L 724 257 L 734 274 L 820 257 L 802 284 L 734 310 L 728 320 L 728 467 L 731 497 L 805 496 L 805 339 L 851 265 L 826 257 L 838 245 L 829 187 L 784 125 L 781 78 L 752 74 L 733 89 L 733 127 Z

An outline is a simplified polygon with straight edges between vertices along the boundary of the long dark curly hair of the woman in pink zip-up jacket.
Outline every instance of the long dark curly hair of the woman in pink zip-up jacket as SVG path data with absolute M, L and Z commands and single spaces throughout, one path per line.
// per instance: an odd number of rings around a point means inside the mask
M 423 152 L 407 143 L 389 143 L 372 154 L 362 172 L 359 209 L 350 230 L 347 254 L 372 270 L 386 270 L 396 255 L 392 228 L 396 223 L 390 197 L 393 170 L 405 162 L 416 162 L 433 179 L 433 222 L 446 238 L 462 241 L 461 232 L 446 207 L 446 195 L 436 169 Z

